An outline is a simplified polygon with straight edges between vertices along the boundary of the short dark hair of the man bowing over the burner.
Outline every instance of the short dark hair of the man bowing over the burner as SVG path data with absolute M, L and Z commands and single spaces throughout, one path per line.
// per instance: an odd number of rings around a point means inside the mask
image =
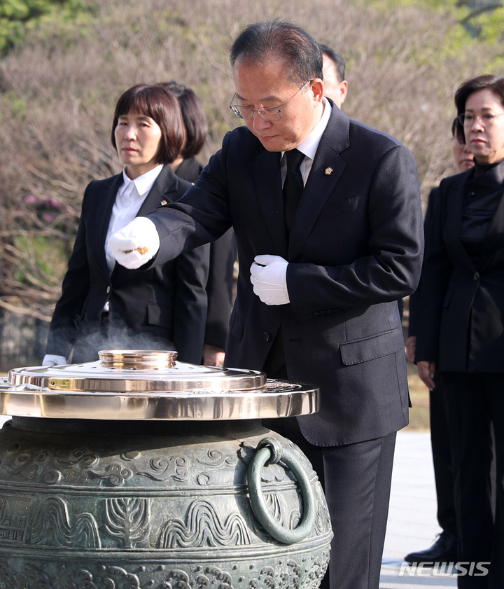
M 268 55 L 286 63 L 285 74 L 293 84 L 322 78 L 322 52 L 309 32 L 292 22 L 276 18 L 248 25 L 230 51 L 232 67 L 239 58 L 261 65 Z

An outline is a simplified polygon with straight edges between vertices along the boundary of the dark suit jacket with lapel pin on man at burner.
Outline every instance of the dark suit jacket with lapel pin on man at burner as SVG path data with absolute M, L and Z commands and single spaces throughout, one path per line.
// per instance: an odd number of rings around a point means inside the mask
M 398 298 L 416 288 L 423 226 L 416 162 L 399 141 L 333 108 L 290 240 L 280 153 L 247 127 L 226 134 L 195 186 L 149 215 L 164 263 L 230 226 L 238 245 L 237 299 L 226 365 L 261 370 L 281 326 L 290 380 L 321 387 L 321 409 L 298 418 L 316 445 L 389 434 L 408 422 Z M 253 293 L 254 256 L 288 260 L 288 305 Z

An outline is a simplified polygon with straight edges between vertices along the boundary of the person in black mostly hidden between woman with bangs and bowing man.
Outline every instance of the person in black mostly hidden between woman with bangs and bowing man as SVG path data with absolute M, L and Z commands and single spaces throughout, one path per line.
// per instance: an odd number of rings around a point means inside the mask
M 196 159 L 207 139 L 208 123 L 203 104 L 194 90 L 170 81 L 163 83 L 179 99 L 186 142 L 181 153 L 170 164 L 175 174 L 194 183 L 203 166 Z M 228 339 L 229 319 L 234 299 L 234 268 L 237 259 L 235 233 L 232 228 L 210 244 L 210 267 L 207 282 L 207 326 L 205 328 L 203 359 L 207 366 L 223 366 L 225 342 Z

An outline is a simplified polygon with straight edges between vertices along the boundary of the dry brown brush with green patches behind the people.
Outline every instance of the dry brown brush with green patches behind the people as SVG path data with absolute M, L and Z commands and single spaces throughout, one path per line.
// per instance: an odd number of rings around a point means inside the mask
M 228 49 L 249 22 L 287 18 L 346 58 L 351 117 L 415 155 L 423 199 L 456 172 L 461 81 L 503 74 L 504 8 L 460 0 L 3 0 L 0 5 L 0 307 L 50 319 L 86 184 L 120 170 L 118 96 L 176 79 L 209 119 L 206 162 L 237 125 Z

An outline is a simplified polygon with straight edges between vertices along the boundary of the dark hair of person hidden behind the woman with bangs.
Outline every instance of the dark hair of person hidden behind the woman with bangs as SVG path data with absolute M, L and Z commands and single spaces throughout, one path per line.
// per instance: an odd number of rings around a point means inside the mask
M 195 91 L 184 84 L 171 80 L 162 82 L 160 85 L 172 90 L 179 99 L 183 122 L 186 125 L 186 144 L 183 146 L 181 155 L 184 159 L 193 158 L 202 151 L 204 142 L 207 140 L 208 123 L 203 103 Z

